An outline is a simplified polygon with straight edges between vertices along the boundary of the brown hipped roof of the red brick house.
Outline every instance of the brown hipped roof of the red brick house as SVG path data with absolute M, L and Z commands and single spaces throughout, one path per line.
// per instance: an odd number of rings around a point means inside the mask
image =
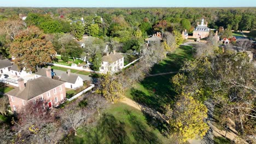
M 17 87 L 7 94 L 20 99 L 30 100 L 40 94 L 50 91 L 50 89 L 62 85 L 63 83 L 65 82 L 41 76 L 37 79 L 28 81 L 26 83 L 26 87 L 22 91 Z

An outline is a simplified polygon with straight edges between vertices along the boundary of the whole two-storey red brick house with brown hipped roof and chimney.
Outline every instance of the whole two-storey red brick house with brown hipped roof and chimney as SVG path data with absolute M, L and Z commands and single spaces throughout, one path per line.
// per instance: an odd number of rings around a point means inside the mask
M 19 87 L 6 93 L 9 98 L 11 111 L 19 112 L 26 104 L 43 102 L 42 109 L 51 109 L 59 106 L 66 100 L 65 82 L 41 76 L 24 83 L 24 79 L 18 79 Z

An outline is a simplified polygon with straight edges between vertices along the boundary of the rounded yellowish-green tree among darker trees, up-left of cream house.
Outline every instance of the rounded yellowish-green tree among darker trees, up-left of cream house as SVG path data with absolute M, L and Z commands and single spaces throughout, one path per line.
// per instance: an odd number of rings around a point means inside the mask
M 85 30 L 84 30 L 82 23 L 79 23 L 79 22 L 72 23 L 72 25 L 70 27 L 70 31 L 76 39 L 78 39 L 78 40 L 83 39 Z

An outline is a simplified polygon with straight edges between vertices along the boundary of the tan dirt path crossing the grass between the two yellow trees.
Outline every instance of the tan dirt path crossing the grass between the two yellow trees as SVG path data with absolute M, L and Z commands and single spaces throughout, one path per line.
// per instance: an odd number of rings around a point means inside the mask
M 129 98 L 124 98 L 123 101 L 121 101 L 121 103 L 124 103 L 124 104 L 127 104 L 129 106 L 132 106 L 134 107 L 135 109 L 137 110 L 140 110 L 140 111 L 143 111 L 143 112 L 146 112 L 148 113 L 150 116 L 153 116 L 155 118 L 158 118 L 158 119 L 161 119 L 162 121 L 166 122 L 166 123 L 169 123 L 169 121 L 167 120 L 168 118 L 163 115 L 162 113 L 154 110 L 154 109 L 151 109 L 147 106 L 144 106 L 144 105 L 141 105 L 141 104 L 138 104 L 136 103 L 135 101 L 129 99 Z

